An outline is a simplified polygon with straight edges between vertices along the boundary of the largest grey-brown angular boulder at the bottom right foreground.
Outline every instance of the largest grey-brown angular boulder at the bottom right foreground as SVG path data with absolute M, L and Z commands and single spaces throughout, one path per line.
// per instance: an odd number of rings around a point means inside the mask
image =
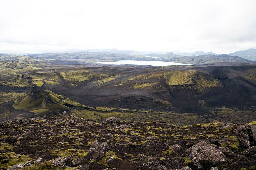
M 187 149 L 186 155 L 197 169 L 227 162 L 227 158 L 219 149 L 207 144 L 203 140 Z

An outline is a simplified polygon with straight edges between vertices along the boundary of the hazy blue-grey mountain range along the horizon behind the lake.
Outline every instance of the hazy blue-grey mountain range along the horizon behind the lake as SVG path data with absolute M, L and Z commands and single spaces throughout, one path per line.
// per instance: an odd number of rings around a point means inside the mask
M 118 60 L 143 60 L 143 61 L 168 61 L 186 64 L 210 64 L 217 62 L 255 62 L 256 49 L 236 51 L 229 54 L 216 54 L 213 52 L 195 51 L 191 53 L 182 53 L 180 51 L 159 52 L 159 51 L 133 51 L 118 49 L 88 49 L 79 51 L 70 49 L 63 53 L 44 53 L 28 54 L 31 57 L 40 57 L 41 59 L 52 59 L 62 61 L 80 61 L 80 62 L 100 62 L 100 61 L 118 61 Z M 0 54 L 1 60 L 13 60 L 17 55 Z

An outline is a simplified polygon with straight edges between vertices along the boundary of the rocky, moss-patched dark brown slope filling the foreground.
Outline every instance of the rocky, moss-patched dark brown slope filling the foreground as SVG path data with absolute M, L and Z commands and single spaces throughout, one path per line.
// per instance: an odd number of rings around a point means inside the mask
M 0 169 L 256 170 L 256 122 L 177 127 L 75 116 L 0 124 Z

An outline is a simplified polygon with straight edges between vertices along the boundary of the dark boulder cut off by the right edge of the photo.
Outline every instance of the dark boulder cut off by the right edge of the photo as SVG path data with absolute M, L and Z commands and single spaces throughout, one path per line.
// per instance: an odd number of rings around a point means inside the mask
M 236 136 L 242 147 L 256 146 L 256 125 L 241 125 L 236 129 Z

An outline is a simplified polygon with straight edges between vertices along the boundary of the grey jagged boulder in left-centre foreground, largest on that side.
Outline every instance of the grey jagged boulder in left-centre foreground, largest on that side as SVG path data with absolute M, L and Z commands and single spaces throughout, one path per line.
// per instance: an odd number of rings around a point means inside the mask
M 88 154 L 90 154 L 93 159 L 97 159 L 102 158 L 107 151 L 109 151 L 109 146 L 106 142 L 102 142 L 101 144 L 99 144 L 98 142 L 94 141 L 90 145 Z

